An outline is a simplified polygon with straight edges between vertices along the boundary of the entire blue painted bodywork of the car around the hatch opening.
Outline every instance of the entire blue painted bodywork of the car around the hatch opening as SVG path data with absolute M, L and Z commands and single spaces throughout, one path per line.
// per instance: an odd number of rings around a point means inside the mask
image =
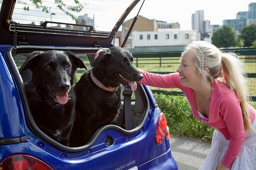
M 1 55 L 1 54 L 0 54 Z M 146 91 L 150 109 L 147 121 L 137 133 L 126 135 L 114 129 L 105 130 L 89 150 L 77 153 L 63 152 L 42 141 L 28 128 L 26 114 L 15 79 L 1 55 L 0 61 L 0 139 L 23 138 L 20 143 L 0 145 L 0 163 L 8 156 L 26 154 L 39 158 L 53 169 L 177 169 L 167 139 L 155 145 L 155 131 L 160 109 L 148 86 Z M 105 138 L 111 136 L 113 145 Z M 26 139 L 24 139 L 26 138 Z M 119 169 L 118 169 L 119 168 Z

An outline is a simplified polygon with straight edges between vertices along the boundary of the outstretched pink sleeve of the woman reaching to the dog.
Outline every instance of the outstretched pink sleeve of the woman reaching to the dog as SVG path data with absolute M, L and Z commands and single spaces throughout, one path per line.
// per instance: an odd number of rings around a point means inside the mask
M 159 88 L 180 88 L 179 73 L 155 74 L 140 70 L 144 78 L 138 83 Z

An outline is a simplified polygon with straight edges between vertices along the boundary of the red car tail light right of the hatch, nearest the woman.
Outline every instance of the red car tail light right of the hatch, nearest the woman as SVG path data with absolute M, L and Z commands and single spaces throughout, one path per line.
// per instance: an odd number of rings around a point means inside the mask
M 160 113 L 160 116 L 158 118 L 158 125 L 156 126 L 156 132 L 155 132 L 155 145 L 159 145 L 164 141 L 164 136 L 166 135 L 166 129 L 167 129 L 166 117 L 164 116 L 163 113 Z

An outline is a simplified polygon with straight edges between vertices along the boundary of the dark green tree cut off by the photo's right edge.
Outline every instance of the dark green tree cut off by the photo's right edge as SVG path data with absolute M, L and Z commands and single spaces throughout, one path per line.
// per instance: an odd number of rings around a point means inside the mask
M 241 29 L 240 39 L 245 40 L 244 46 L 252 46 L 256 40 L 256 23 L 243 27 Z

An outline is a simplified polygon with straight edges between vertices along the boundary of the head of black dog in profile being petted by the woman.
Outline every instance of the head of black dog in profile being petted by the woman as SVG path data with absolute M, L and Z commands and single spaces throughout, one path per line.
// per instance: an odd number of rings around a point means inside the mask
M 93 74 L 106 87 L 117 87 L 123 84 L 135 91 L 137 83 L 143 78 L 133 64 L 133 56 L 124 48 L 112 46 L 100 52 L 92 64 Z

